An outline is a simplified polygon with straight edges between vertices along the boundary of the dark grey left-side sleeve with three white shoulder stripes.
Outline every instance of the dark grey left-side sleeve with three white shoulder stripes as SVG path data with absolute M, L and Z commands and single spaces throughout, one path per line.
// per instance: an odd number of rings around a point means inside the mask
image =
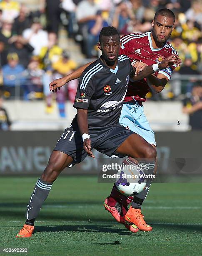
M 88 109 L 90 99 L 95 92 L 92 77 L 88 80 L 88 77 L 85 74 L 86 72 L 83 72 L 82 76 L 80 77 L 74 101 L 74 108 Z

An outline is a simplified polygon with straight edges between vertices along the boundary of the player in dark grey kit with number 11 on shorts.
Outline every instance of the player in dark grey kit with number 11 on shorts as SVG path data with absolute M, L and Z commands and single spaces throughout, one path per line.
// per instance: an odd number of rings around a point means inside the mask
M 102 28 L 98 43 L 102 55 L 80 77 L 74 102 L 77 115 L 57 141 L 42 176 L 37 180 L 27 205 L 26 223 L 16 235 L 17 238 L 32 236 L 35 218 L 57 176 L 65 167 L 80 163 L 87 155 L 95 158 L 92 148 L 111 157 L 142 158 L 142 166 L 149 166 L 148 172 L 153 173 L 156 150 L 141 136 L 120 125 L 121 108 L 129 78 L 141 79 L 155 69 L 179 64 L 179 60 L 173 54 L 160 64 L 145 67 L 135 76 L 130 59 L 125 55 L 119 56 L 120 46 L 116 28 Z M 118 84 L 117 78 L 120 81 Z M 133 232 L 138 231 L 135 225 L 125 225 Z

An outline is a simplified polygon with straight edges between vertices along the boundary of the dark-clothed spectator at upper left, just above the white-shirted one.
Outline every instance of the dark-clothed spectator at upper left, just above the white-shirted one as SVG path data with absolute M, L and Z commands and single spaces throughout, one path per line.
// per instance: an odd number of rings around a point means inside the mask
M 30 26 L 31 26 L 31 18 L 28 13 L 27 7 L 25 5 L 21 5 L 20 13 L 15 18 L 12 26 L 12 35 L 22 35 L 22 32 L 26 28 L 30 28 Z

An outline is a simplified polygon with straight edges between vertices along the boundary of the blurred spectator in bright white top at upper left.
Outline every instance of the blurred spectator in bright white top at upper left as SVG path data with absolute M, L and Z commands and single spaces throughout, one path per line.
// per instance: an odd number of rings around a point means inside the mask
M 31 28 L 23 31 L 22 36 L 28 40 L 29 44 L 34 48 L 33 54 L 39 55 L 43 46 L 48 45 L 48 34 L 42 29 L 39 18 L 34 18 Z

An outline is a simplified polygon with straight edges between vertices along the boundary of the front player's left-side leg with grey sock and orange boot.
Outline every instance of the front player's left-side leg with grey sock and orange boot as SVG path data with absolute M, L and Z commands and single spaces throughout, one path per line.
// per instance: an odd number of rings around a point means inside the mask
M 53 151 L 49 162 L 42 174 L 37 180 L 34 191 L 27 204 L 27 218 L 25 225 L 20 232 L 15 236 L 17 238 L 24 238 L 32 236 L 34 230 L 34 222 L 40 212 L 43 202 L 46 200 L 53 182 L 62 170 L 72 162 L 72 157 L 60 151 Z

